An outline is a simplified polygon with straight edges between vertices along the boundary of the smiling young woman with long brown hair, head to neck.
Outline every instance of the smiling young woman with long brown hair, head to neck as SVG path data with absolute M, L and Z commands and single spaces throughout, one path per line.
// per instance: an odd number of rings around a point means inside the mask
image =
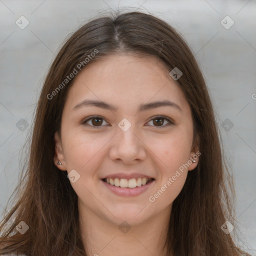
M 98 17 L 49 69 L 0 254 L 248 255 L 225 166 L 184 39 L 149 14 Z

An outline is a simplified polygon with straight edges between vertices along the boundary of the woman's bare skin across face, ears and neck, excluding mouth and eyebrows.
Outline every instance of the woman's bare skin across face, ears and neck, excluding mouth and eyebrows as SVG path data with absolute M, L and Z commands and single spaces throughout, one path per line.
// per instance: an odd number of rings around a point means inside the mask
M 168 188 L 149 201 L 169 177 L 198 151 L 193 143 L 191 109 L 182 90 L 156 57 L 114 54 L 89 63 L 75 76 L 61 119 L 61 136 L 55 133 L 54 162 L 80 178 L 71 183 L 78 196 L 82 240 L 88 255 L 163 255 L 173 200 L 181 191 L 191 163 Z M 73 109 L 84 99 L 102 100 L 118 110 L 95 106 Z M 138 112 L 141 103 L 171 100 L 181 107 L 160 106 Z M 101 116 L 82 124 L 85 117 Z M 164 115 L 174 124 L 157 125 Z M 152 118 L 153 117 L 153 118 Z M 131 127 L 118 123 L 126 118 Z M 160 118 L 161 119 L 161 118 Z M 94 125 L 94 126 L 93 126 Z M 100 126 L 101 125 L 101 126 Z M 101 178 L 117 172 L 138 172 L 155 180 L 136 196 L 114 194 Z M 131 229 L 122 233 L 126 221 Z

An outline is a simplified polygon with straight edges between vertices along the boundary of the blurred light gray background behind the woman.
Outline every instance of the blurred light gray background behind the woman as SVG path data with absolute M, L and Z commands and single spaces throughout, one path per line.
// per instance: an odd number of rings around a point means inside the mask
M 165 19 L 193 50 L 233 168 L 240 243 L 256 255 L 255 0 L 0 0 L 0 213 L 16 185 L 19 152 L 60 43 L 88 18 L 118 7 Z M 24 29 L 15 24 L 21 15 L 29 21 Z M 234 21 L 229 29 L 220 23 L 226 15 Z M 23 131 L 16 127 L 21 118 L 29 124 Z M 229 131 L 221 127 L 226 118 L 234 124 Z

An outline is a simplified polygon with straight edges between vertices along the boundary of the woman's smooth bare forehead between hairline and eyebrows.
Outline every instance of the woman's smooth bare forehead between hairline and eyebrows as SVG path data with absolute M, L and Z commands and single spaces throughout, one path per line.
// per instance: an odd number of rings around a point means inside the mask
M 75 77 L 66 104 L 74 107 L 84 98 L 137 107 L 141 102 L 172 100 L 189 108 L 182 90 L 167 67 L 154 56 L 109 55 L 88 63 Z M 187 110 L 187 109 L 186 109 Z

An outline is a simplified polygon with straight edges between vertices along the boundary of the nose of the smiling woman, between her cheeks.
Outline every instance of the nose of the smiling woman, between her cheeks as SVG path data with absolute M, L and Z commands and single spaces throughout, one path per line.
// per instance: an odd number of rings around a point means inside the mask
M 112 160 L 132 164 L 145 159 L 146 145 L 141 134 L 133 126 L 131 125 L 126 131 L 117 127 L 116 135 L 111 139 L 109 149 L 109 157 Z

